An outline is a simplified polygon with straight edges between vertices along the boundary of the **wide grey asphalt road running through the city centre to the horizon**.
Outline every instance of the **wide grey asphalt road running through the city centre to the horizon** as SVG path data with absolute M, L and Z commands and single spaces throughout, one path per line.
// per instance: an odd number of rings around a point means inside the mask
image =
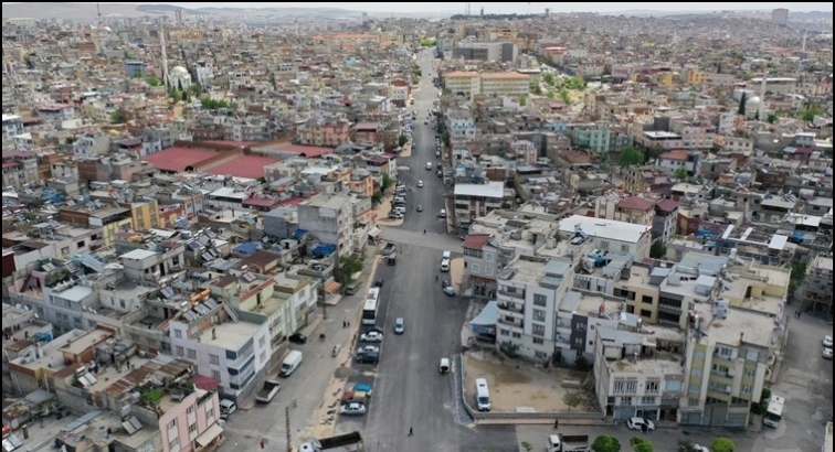
M 425 170 L 427 161 L 435 162 L 435 139 L 434 129 L 423 126 L 423 120 L 436 90 L 431 82 L 431 53 L 421 55 L 419 61 L 424 66 L 424 80 L 415 101 L 422 111 L 415 121 L 418 149 L 405 164 L 412 168 L 412 176 L 421 174 L 416 177 L 424 182 L 424 187 L 415 189 L 409 200 L 410 204 L 423 204 L 424 212 L 416 213 L 412 207 L 402 227 L 385 228 L 383 233 L 383 237 L 398 245 L 398 262 L 388 266 L 381 261 L 376 276 L 384 281 L 378 312 L 378 325 L 385 331 L 380 364 L 353 364 L 359 370 L 353 380 L 373 379 L 374 392 L 366 416 L 342 417 L 336 430 L 337 433 L 359 430 L 369 452 L 517 452 L 515 428 L 475 428 L 457 421 L 455 378 L 458 376 L 438 373 L 441 358 L 461 351 L 461 327 L 467 301 L 446 297 L 435 281 L 435 276 L 448 278 L 448 273 L 440 273 L 442 247 L 445 244 L 459 246 L 461 240 L 446 236 L 445 224 L 436 219 L 433 212 L 443 208 L 443 184 L 434 169 Z M 426 175 L 422 175 L 423 172 Z M 414 187 L 408 179 L 406 183 Z M 424 228 L 427 229 L 425 236 Z M 452 246 L 446 249 L 458 250 Z M 403 335 L 393 333 L 397 318 L 405 320 Z M 353 344 L 355 349 L 358 346 Z M 413 437 L 408 435 L 410 429 L 414 431 Z

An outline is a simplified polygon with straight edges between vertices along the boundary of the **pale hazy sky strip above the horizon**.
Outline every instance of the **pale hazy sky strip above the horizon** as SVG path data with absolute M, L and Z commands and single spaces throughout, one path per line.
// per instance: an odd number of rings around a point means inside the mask
M 3 2 L 9 3 L 9 2 Z M 369 12 L 464 12 L 465 2 L 283 2 L 283 3 L 247 3 L 247 2 L 163 2 L 163 1 L 125 1 L 124 3 L 146 3 L 146 4 L 176 4 L 183 8 L 205 8 L 205 7 L 239 7 L 239 8 L 258 8 L 258 7 L 285 7 L 285 8 L 341 8 L 353 11 Z M 107 4 L 107 2 L 101 2 Z M 653 11 L 718 11 L 718 10 L 771 10 L 774 8 L 788 8 L 790 11 L 832 11 L 832 2 L 496 2 L 496 3 L 471 3 L 471 10 L 475 14 L 484 6 L 486 13 L 519 13 L 545 12 L 550 8 L 551 12 L 616 12 L 626 10 L 653 10 Z M 105 11 L 103 11 L 105 12 Z

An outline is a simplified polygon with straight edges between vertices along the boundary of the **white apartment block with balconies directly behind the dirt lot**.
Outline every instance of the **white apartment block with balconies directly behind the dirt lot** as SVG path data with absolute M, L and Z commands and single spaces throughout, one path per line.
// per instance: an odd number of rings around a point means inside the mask
M 571 287 L 571 269 L 570 260 L 519 256 L 499 270 L 497 348 L 540 363 L 553 358 L 557 310 Z

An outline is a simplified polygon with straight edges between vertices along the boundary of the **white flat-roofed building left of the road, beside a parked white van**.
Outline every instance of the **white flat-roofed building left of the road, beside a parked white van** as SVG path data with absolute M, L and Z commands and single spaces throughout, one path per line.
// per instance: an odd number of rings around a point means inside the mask
M 219 380 L 224 395 L 241 399 L 255 388 L 260 374 L 266 373 L 271 353 L 268 324 L 241 322 L 236 316 L 224 319 L 202 331 L 197 322 L 172 321 L 171 352 L 193 362 L 200 375 Z

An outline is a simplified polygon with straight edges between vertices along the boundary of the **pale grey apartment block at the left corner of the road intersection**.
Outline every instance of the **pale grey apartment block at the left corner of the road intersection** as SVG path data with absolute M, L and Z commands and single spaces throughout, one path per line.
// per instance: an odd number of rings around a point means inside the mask
M 317 194 L 298 204 L 298 227 L 323 244 L 337 247 L 339 256 L 353 252 L 351 197 Z

